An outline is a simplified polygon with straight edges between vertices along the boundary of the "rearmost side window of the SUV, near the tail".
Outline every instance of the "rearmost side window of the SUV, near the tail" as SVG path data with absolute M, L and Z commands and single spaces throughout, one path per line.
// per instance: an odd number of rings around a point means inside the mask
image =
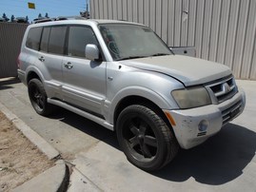
M 26 41 L 26 46 L 28 48 L 32 48 L 35 50 L 39 49 L 41 32 L 42 32 L 42 28 L 31 28 L 30 29 L 30 31 L 28 33 L 27 41 Z

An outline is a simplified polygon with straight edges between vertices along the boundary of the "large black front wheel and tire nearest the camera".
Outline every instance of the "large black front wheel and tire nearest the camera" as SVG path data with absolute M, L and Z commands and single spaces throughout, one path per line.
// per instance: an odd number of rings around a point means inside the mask
M 146 170 L 158 170 L 177 154 L 179 144 L 165 121 L 147 106 L 125 108 L 116 123 L 118 142 L 128 161 Z

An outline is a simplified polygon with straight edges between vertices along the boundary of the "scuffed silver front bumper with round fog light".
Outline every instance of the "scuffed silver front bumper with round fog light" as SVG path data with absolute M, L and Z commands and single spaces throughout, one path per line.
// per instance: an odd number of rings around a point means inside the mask
M 188 149 L 204 143 L 219 132 L 223 125 L 239 116 L 246 106 L 246 95 L 239 90 L 231 99 L 219 105 L 201 106 L 191 109 L 168 110 L 175 124 L 172 125 L 178 143 Z M 198 125 L 206 120 L 207 130 L 200 131 Z

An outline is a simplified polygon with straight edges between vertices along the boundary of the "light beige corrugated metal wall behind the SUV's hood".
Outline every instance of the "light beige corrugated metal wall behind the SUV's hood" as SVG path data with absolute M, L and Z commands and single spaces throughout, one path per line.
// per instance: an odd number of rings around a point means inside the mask
M 197 57 L 256 80 L 256 0 L 90 0 L 90 13 L 145 24 L 169 47 L 195 47 Z

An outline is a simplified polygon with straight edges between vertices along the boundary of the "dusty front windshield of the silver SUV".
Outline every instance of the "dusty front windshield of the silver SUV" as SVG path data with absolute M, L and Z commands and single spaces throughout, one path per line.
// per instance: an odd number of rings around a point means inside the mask
M 171 54 L 166 44 L 147 27 L 105 24 L 99 29 L 115 61 Z

